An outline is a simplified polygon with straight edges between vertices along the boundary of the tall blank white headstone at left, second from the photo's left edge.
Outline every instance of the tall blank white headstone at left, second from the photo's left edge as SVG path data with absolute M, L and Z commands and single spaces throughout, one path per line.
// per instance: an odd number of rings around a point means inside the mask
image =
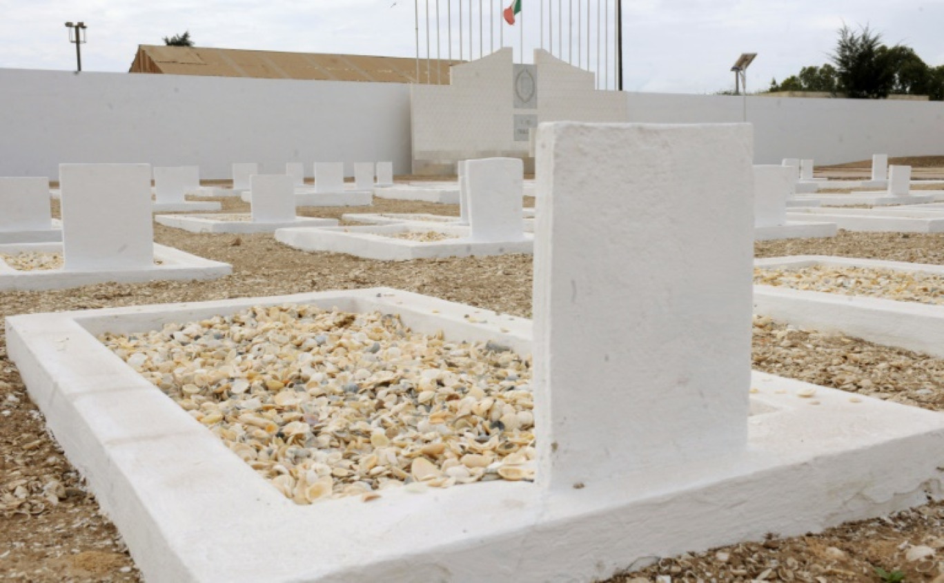
M 66 271 L 154 267 L 151 167 L 60 164 Z

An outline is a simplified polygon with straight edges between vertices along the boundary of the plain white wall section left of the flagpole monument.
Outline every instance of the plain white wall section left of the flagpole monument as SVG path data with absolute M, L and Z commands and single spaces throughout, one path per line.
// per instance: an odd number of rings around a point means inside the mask
M 273 174 L 315 160 L 410 170 L 407 85 L 0 69 L 0 87 L 0 176 L 146 162 L 226 179 L 245 160 Z

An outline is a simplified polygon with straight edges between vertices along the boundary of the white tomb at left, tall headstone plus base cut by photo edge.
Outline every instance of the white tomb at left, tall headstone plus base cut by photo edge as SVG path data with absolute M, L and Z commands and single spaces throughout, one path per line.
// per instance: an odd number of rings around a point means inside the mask
M 212 279 L 228 264 L 153 242 L 151 167 L 61 164 L 62 242 L 0 245 L 0 255 L 58 254 L 62 267 L 19 271 L 0 260 L 0 290 L 50 290 L 107 281 Z M 102 212 L 102 209 L 108 212 Z

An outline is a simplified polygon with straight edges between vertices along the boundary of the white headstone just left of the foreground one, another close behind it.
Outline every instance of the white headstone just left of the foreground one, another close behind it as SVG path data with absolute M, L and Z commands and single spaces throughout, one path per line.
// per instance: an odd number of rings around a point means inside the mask
M 524 162 L 520 158 L 465 160 L 465 180 L 470 238 L 482 242 L 524 239 Z

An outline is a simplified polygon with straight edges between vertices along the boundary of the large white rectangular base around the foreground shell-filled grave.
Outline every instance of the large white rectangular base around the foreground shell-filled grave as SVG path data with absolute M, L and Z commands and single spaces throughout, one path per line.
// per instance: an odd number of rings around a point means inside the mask
M 148 581 L 600 580 L 941 497 L 939 413 L 824 388 L 804 399 L 811 385 L 754 373 L 749 444 L 736 456 L 564 491 L 538 475 L 296 506 L 95 339 L 299 302 L 530 352 L 528 321 L 385 289 L 8 318 L 10 359 Z

